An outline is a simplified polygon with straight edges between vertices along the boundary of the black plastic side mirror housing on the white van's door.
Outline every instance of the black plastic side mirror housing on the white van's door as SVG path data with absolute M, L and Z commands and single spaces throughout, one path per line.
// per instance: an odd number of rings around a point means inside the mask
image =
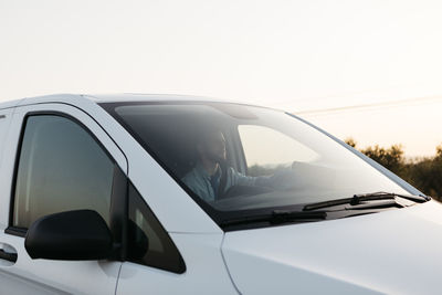
M 32 259 L 104 260 L 113 238 L 104 219 L 93 210 L 75 210 L 42 217 L 28 230 L 24 247 Z

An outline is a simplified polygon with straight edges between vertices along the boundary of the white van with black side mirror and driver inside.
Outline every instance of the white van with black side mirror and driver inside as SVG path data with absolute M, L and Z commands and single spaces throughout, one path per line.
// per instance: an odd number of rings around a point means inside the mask
M 0 294 L 441 294 L 442 208 L 281 110 L 0 104 Z

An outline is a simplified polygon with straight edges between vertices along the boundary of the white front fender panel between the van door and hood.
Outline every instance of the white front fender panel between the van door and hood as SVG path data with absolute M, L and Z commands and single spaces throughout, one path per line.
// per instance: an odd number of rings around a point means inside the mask
M 188 267 L 183 274 L 129 262 L 123 263 L 119 294 L 238 294 L 225 268 L 220 246 L 223 234 L 172 233 Z

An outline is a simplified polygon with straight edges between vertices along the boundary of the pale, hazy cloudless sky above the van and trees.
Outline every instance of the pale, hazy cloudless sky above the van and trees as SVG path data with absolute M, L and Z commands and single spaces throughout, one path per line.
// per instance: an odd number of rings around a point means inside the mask
M 440 15 L 429 0 L 0 0 L 0 102 L 207 95 L 431 156 L 442 144 Z

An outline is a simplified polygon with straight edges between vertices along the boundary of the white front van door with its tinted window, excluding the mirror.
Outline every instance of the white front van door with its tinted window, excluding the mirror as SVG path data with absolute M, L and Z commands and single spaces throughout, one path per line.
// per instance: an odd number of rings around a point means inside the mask
M 18 107 L 8 143 L 1 176 L 9 183 L 0 188 L 0 204 L 10 210 L 0 217 L 0 293 L 115 294 L 120 262 L 32 260 L 24 236 L 40 217 L 91 209 L 118 242 L 114 217 L 118 196 L 124 198 L 117 183 L 127 173 L 123 152 L 90 115 L 63 104 Z

